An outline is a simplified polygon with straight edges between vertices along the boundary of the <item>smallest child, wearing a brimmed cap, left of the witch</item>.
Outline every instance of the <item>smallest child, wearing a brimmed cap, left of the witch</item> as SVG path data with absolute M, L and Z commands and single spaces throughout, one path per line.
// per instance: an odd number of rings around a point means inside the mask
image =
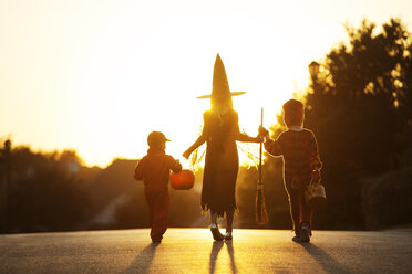
M 148 205 L 148 220 L 152 226 L 153 242 L 161 242 L 167 230 L 168 214 L 168 180 L 171 170 L 179 172 L 182 165 L 172 156 L 165 154 L 168 139 L 163 133 L 153 131 L 147 137 L 148 150 L 134 172 L 134 179 L 143 180 L 144 193 Z

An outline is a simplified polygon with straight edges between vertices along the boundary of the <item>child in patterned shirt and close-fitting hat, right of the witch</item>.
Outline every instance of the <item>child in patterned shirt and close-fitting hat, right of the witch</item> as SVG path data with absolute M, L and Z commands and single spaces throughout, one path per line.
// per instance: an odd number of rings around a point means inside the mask
M 320 181 L 318 144 L 312 131 L 302 128 L 303 104 L 290 99 L 284 105 L 284 122 L 288 130 L 276 140 L 260 127 L 259 133 L 266 136 L 265 149 L 272 156 L 284 158 L 284 182 L 289 196 L 290 214 L 293 223 L 293 241 L 309 242 L 311 236 L 312 210 L 305 202 L 305 189 L 310 181 Z

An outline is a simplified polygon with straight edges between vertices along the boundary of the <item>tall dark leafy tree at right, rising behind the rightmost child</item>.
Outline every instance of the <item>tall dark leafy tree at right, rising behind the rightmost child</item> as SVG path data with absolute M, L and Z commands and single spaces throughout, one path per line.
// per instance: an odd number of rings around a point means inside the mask
M 399 19 L 379 31 L 367 20 L 347 31 L 349 44 L 332 49 L 312 77 L 306 126 L 326 162 L 326 218 L 362 228 L 362 179 L 399 168 L 410 146 L 412 48 Z

